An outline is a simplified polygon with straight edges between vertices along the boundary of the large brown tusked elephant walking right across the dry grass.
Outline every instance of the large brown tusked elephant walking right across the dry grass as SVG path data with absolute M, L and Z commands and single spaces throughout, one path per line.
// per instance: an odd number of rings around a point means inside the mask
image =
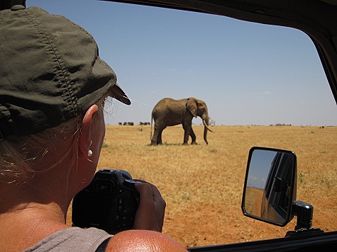
M 207 141 L 207 131 L 214 132 L 209 128 L 209 113 L 204 101 L 190 97 L 181 100 L 172 98 L 163 98 L 160 100 L 152 111 L 151 132 L 153 120 L 155 122 L 155 132 L 151 139 L 151 145 L 162 144 L 162 130 L 167 126 L 182 124 L 184 128 L 184 142 L 188 144 L 189 136 L 192 137 L 191 144 L 197 144 L 196 135 L 192 130 L 192 119 L 199 116 L 204 123 L 204 141 Z

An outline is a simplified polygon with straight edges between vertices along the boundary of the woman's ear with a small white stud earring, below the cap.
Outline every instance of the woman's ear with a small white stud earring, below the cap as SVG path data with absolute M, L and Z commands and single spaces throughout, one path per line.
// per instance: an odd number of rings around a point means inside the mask
M 87 159 L 90 146 L 92 145 L 91 127 L 94 115 L 99 110 L 96 104 L 88 108 L 82 120 L 79 132 L 79 154 Z

